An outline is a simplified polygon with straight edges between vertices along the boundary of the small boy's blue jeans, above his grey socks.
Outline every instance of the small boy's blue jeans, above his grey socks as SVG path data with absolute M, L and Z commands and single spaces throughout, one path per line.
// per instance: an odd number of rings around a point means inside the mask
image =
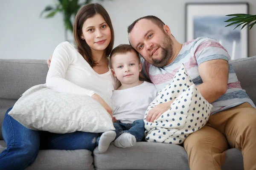
M 135 120 L 133 123 L 122 123 L 120 120 L 117 120 L 113 125 L 116 128 L 114 130 L 116 132 L 116 138 L 122 135 L 122 133 L 130 133 L 135 136 L 137 142 L 144 139 L 145 128 L 143 119 Z M 99 144 L 99 139 L 100 136 L 97 138 L 97 145 Z

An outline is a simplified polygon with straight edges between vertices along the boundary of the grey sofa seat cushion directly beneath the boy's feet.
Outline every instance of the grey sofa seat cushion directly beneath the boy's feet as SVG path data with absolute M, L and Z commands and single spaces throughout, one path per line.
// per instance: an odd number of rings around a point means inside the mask
M 96 170 L 189 170 L 188 156 L 176 144 L 137 142 L 133 147 L 109 146 L 105 153 L 93 151 Z

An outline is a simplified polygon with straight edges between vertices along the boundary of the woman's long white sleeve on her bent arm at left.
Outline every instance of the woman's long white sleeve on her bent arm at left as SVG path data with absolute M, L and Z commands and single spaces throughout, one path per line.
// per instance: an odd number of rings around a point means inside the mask
M 67 68 L 73 62 L 75 50 L 69 42 L 62 42 L 55 48 L 46 77 L 46 85 L 48 88 L 61 93 L 93 96 L 94 91 L 81 88 L 65 79 Z

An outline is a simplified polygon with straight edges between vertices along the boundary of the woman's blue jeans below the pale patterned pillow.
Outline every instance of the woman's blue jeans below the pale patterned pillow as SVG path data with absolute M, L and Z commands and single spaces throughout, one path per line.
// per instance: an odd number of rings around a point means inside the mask
M 24 170 L 35 161 L 39 149 L 93 151 L 96 147 L 99 133 L 30 130 L 8 115 L 11 110 L 3 119 L 2 134 L 7 148 L 0 153 L 0 170 Z

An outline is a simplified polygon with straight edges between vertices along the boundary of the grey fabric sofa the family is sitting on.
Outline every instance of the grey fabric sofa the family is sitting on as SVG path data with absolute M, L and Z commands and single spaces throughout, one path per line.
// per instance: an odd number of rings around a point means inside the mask
M 256 103 L 256 57 L 233 60 L 242 88 Z M 46 60 L 0 59 L 0 145 L 2 122 L 6 110 L 28 88 L 44 84 L 48 67 Z M 1 150 L 0 150 L 1 152 Z M 223 170 L 242 170 L 241 151 L 226 151 Z M 200 162 L 198 162 L 200 163 Z M 1 166 L 1 165 L 0 165 Z M 100 154 L 88 150 L 40 150 L 35 162 L 26 170 L 189 170 L 188 156 L 182 146 L 137 142 L 134 147 L 117 148 L 113 144 Z

